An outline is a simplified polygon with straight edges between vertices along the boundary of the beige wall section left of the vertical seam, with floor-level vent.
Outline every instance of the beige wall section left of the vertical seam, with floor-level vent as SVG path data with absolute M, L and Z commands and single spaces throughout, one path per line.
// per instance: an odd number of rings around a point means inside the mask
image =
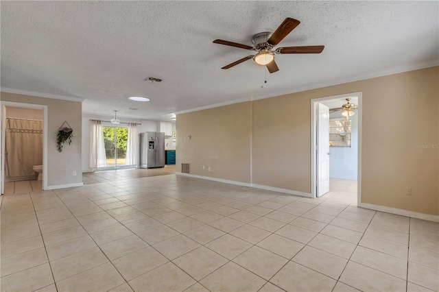
M 250 106 L 244 102 L 178 115 L 177 171 L 189 163 L 194 175 L 250 183 Z

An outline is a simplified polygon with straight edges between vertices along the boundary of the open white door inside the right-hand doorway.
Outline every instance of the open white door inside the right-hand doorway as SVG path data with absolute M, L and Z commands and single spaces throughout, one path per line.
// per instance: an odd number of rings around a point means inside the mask
M 317 197 L 329 192 L 329 107 L 317 104 Z

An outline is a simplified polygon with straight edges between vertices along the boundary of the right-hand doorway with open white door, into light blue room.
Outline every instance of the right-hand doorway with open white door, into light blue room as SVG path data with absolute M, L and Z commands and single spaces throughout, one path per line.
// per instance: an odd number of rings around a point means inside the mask
M 342 116 L 346 98 L 358 106 Z M 327 117 L 327 121 L 325 120 Z M 361 93 L 311 99 L 311 194 L 333 202 L 361 202 Z

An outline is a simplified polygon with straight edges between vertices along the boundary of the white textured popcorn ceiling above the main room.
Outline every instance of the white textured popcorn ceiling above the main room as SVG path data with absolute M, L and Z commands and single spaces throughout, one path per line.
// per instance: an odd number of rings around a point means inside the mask
M 170 119 L 215 104 L 272 97 L 438 64 L 438 1 L 1 1 L 1 87 L 84 99 L 85 115 Z M 301 23 L 269 74 L 251 45 L 286 17 Z M 264 84 L 265 75 L 268 83 Z M 146 77 L 161 84 L 144 82 Z M 261 88 L 263 85 L 263 88 Z M 128 101 L 130 95 L 151 99 Z M 129 110 L 128 108 L 139 108 Z

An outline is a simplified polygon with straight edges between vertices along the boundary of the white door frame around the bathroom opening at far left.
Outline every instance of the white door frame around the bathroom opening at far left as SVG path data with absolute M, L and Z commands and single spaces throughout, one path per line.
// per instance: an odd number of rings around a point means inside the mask
M 13 101 L 0 101 L 0 106 L 11 106 L 14 108 L 33 108 L 35 110 L 43 110 L 43 191 L 47 190 L 47 106 L 42 104 L 25 104 L 21 102 L 13 102 Z M 4 127 L 4 128 L 3 128 Z M 3 145 L 5 143 L 5 125 L 2 123 L 1 135 L 0 135 L 0 144 L 2 147 L 1 151 L 1 194 L 4 193 L 5 186 L 5 151 L 3 149 Z

